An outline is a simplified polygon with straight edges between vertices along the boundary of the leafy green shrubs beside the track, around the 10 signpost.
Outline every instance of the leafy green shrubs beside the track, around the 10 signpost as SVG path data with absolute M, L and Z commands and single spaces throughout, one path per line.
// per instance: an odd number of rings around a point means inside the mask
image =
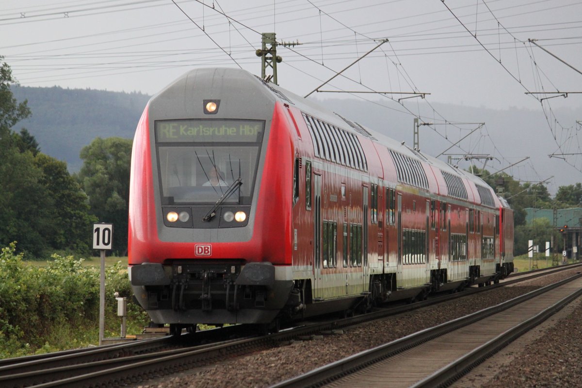
M 62 350 L 98 343 L 100 271 L 84 259 L 52 255 L 45 268 L 27 265 L 16 243 L 0 251 L 0 357 Z M 119 336 L 117 301 L 131 296 L 121 262 L 105 272 L 106 337 Z M 147 314 L 129 301 L 128 333 L 147 325 Z

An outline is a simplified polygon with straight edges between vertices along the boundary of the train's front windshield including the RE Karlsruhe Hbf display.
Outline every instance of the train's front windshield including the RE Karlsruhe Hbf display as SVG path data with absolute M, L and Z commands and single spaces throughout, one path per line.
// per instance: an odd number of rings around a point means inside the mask
M 250 205 L 264 128 L 258 120 L 155 122 L 162 204 L 214 204 L 240 178 L 223 202 Z

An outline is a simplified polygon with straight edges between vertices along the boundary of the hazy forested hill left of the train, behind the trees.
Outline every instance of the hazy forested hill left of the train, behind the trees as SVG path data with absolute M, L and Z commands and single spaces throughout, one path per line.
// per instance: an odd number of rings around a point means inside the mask
M 17 101 L 28 99 L 32 115 L 12 129 L 29 130 L 41 152 L 65 161 L 70 172 L 81 168 L 79 152 L 95 137 L 133 138 L 141 112 L 150 96 L 132 92 L 19 87 Z

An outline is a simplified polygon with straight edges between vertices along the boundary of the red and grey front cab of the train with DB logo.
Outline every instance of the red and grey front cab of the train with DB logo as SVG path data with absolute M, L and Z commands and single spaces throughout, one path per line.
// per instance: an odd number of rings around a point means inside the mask
M 192 95 L 203 103 L 203 84 L 184 77 L 150 101 L 134 138 L 130 281 L 152 321 L 175 329 L 267 324 L 293 284 L 289 126 L 268 88 L 250 74 L 233 78 L 212 87 L 248 84 L 252 101 L 228 95 L 217 115 L 198 118 L 172 103 Z M 261 108 L 249 109 L 257 101 Z M 215 168 L 225 184 L 205 185 Z

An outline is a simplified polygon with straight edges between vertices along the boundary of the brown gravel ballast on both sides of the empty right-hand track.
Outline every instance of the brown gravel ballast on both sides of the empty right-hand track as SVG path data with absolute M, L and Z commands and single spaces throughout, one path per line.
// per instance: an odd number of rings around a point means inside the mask
M 459 316 L 471 314 L 499 302 L 528 293 L 542 286 L 572 276 L 576 269 L 539 277 L 528 282 L 500 287 L 474 296 L 458 298 L 436 306 L 407 312 L 365 323 L 344 334 L 331 334 L 322 339 L 295 341 L 278 347 L 227 359 L 221 364 L 143 382 L 141 388 L 175 387 L 268 387 L 329 364 L 359 351 L 379 346 L 408 334 L 438 325 Z M 497 387 L 580 386 L 582 381 L 582 307 L 550 326 L 541 341 L 519 349 L 509 365 L 482 384 Z

